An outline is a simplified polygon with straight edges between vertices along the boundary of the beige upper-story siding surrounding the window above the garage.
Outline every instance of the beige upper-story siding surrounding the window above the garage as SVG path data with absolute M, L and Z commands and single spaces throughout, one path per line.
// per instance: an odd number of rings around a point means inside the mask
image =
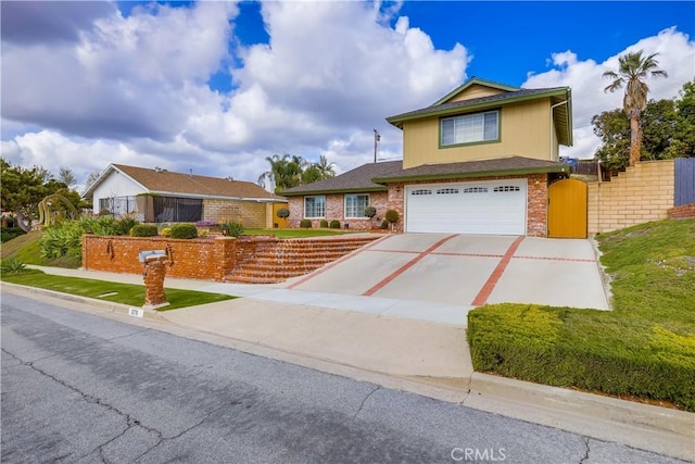
M 503 106 L 501 110 L 501 141 L 458 147 L 439 147 L 439 117 L 408 121 L 403 125 L 403 167 L 432 163 L 486 160 L 519 155 L 538 160 L 553 160 L 557 149 L 551 147 L 549 100 Z

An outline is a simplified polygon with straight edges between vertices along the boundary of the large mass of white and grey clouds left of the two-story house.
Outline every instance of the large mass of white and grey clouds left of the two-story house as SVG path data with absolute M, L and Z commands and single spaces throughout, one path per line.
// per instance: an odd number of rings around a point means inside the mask
M 85 175 L 118 162 L 255 180 L 275 153 L 352 168 L 372 159 L 377 128 L 381 152 L 400 155 L 401 133 L 384 118 L 460 84 L 469 61 L 405 17 L 391 27 L 400 7 L 263 3 L 270 42 L 232 48 L 242 65 L 229 93 L 206 80 L 231 62 L 233 3 L 137 7 L 127 17 L 103 9 L 66 24 L 70 40 L 3 40 L 2 117 L 13 129 L 3 153 L 55 170 L 84 147 L 72 161 L 89 165 Z

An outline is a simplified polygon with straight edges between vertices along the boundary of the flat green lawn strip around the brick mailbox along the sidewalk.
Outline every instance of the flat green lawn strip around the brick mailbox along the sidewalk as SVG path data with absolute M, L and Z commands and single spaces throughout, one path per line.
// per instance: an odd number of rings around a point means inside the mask
M 128 304 L 137 308 L 144 304 L 144 286 L 142 285 L 116 284 L 106 280 L 55 276 L 45 274 L 37 269 L 27 269 L 21 274 L 3 274 L 2 280 L 11 284 L 45 288 L 63 293 L 78 294 L 80 297 L 94 298 L 98 300 Z M 166 299 L 170 304 L 168 306 L 161 308 L 159 311 L 176 310 L 179 308 L 214 303 L 216 301 L 236 298 L 228 294 L 179 290 L 173 288 L 165 289 L 165 292 Z

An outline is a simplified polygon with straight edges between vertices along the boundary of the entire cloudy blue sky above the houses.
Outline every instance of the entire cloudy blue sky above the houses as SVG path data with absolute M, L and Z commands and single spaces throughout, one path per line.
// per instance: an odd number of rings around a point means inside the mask
M 75 174 L 111 163 L 256 181 L 285 153 L 344 173 L 402 158 L 386 118 L 471 77 L 572 89 L 574 145 L 620 108 L 605 71 L 658 53 L 695 78 L 695 2 L 271 1 L 0 3 L 0 151 L 14 165 Z

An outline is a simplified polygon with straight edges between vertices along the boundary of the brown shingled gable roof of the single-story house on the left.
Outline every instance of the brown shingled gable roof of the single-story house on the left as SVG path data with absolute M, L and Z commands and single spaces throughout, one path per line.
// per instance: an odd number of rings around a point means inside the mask
M 256 184 L 245 180 L 228 180 L 219 177 L 174 173 L 166 170 L 111 164 L 86 191 L 83 198 L 90 198 L 94 189 L 112 173 L 119 172 L 150 193 L 174 197 L 218 198 L 256 201 L 285 201 Z

